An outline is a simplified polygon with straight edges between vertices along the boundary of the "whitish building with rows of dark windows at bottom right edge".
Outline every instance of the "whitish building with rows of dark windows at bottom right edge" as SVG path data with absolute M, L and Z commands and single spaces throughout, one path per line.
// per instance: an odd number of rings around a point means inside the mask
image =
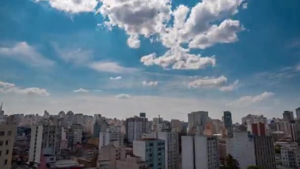
M 297 144 L 284 144 L 280 151 L 282 166 L 300 168 L 300 147 Z

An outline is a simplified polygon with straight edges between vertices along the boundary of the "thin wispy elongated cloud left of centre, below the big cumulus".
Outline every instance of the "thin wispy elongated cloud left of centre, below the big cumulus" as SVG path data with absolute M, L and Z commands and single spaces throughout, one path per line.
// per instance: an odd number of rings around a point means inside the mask
M 112 73 L 124 73 L 124 72 L 135 72 L 138 69 L 136 68 L 127 68 L 122 67 L 116 62 L 93 62 L 88 65 L 91 69 L 94 69 L 99 72 L 112 72 Z

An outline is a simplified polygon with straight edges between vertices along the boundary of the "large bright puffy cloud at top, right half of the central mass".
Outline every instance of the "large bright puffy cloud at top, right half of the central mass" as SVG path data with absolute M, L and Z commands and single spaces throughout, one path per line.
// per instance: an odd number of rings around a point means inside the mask
M 180 5 L 173 12 L 175 18 L 173 27 L 166 28 L 166 31 L 160 34 L 162 43 L 167 47 L 188 43 L 189 47 L 204 49 L 215 43 L 237 41 L 236 33 L 243 31 L 244 28 L 239 21 L 226 18 L 236 14 L 238 6 L 243 1 L 202 0 L 191 8 L 189 15 L 188 8 Z M 213 25 L 212 23 L 216 21 L 222 23 L 219 26 Z

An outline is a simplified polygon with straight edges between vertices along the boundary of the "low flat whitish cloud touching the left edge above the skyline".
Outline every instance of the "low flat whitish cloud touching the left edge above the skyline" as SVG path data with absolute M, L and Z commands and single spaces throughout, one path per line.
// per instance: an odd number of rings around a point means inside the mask
M 23 95 L 50 95 L 46 89 L 38 87 L 20 88 L 15 84 L 4 83 L 0 81 L 0 93 L 12 93 L 12 94 L 23 94 Z

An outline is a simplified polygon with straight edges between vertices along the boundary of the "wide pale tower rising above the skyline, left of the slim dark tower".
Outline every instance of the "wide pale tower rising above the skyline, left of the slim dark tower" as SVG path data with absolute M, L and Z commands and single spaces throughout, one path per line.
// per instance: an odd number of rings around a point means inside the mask
M 188 129 L 190 130 L 192 127 L 204 125 L 209 121 L 208 112 L 198 111 L 188 113 Z

